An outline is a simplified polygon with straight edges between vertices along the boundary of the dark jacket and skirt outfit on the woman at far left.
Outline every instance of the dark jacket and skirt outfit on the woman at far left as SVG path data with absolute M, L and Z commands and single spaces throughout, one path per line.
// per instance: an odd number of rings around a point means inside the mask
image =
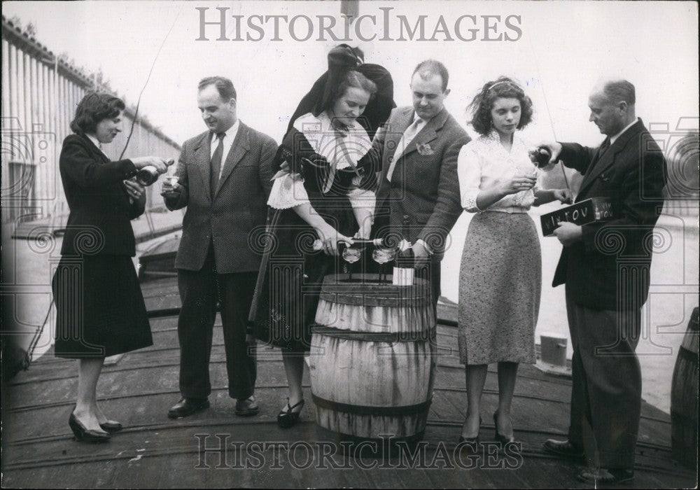
M 90 139 L 71 134 L 60 170 L 71 212 L 52 281 L 55 355 L 99 358 L 153 345 L 130 223 L 144 213 L 146 199 L 130 203 L 123 184 L 136 167 L 110 162 Z

